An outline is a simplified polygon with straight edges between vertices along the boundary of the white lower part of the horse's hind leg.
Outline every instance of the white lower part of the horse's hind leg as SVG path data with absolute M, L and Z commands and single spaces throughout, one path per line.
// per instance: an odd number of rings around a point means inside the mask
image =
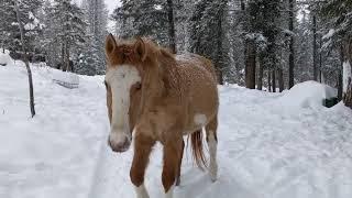
M 210 153 L 209 174 L 212 182 L 216 182 L 218 177 L 217 146 L 218 146 L 218 142 L 213 135 L 213 131 L 209 131 L 209 136 L 208 136 L 208 147 Z

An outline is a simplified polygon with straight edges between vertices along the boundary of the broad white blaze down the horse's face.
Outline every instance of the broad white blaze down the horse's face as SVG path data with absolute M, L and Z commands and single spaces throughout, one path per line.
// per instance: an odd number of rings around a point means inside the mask
M 129 125 L 130 90 L 132 85 L 141 81 L 141 76 L 135 67 L 122 65 L 110 68 L 106 81 L 111 87 L 112 94 L 110 140 L 119 144 L 125 138 L 132 139 Z

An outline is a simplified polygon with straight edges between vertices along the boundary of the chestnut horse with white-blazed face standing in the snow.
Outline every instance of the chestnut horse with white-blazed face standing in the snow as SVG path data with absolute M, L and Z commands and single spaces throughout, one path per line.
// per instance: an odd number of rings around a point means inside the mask
M 109 145 L 125 152 L 134 133 L 130 177 L 138 198 L 148 198 L 144 174 L 152 147 L 163 144 L 162 182 L 165 197 L 179 184 L 183 135 L 190 135 L 199 167 L 206 166 L 202 128 L 210 153 L 209 174 L 217 179 L 217 127 L 219 97 L 213 65 L 205 57 L 174 55 L 146 38 L 106 40 L 107 106 L 111 132 Z M 207 167 L 207 166 L 206 166 Z

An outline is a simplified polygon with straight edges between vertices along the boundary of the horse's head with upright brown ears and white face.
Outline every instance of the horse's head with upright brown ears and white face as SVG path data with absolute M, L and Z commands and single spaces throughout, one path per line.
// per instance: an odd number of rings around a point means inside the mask
M 114 152 L 125 152 L 140 111 L 146 44 L 117 42 L 113 35 L 106 41 L 107 106 L 110 120 L 109 145 Z

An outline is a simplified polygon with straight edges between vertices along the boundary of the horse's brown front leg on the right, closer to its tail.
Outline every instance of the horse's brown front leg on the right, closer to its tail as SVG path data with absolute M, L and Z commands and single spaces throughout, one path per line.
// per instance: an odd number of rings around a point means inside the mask
M 179 170 L 179 158 L 182 156 L 183 139 L 170 140 L 164 143 L 164 167 L 163 186 L 166 198 L 173 198 L 174 185 Z

